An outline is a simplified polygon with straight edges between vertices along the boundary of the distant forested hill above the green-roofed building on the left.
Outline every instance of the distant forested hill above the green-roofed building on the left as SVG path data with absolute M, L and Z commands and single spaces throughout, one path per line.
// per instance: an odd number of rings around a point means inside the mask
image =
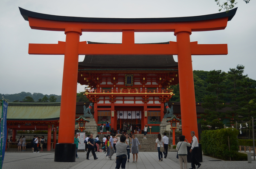
M 32 97 L 32 99 L 35 102 L 61 102 L 61 96 L 58 95 L 44 95 L 42 93 L 29 93 L 29 92 L 20 92 L 17 94 L 1 94 L 0 97 L 2 96 L 8 101 L 8 102 L 26 102 L 26 98 Z M 50 99 L 52 98 L 52 100 Z M 49 100 L 50 99 L 50 100 Z M 33 102 L 33 101 L 32 101 Z

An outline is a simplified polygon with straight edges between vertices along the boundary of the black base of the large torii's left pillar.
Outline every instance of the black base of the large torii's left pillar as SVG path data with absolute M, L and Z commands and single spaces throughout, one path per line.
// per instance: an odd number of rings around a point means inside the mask
M 76 144 L 57 143 L 55 145 L 55 162 L 76 162 Z

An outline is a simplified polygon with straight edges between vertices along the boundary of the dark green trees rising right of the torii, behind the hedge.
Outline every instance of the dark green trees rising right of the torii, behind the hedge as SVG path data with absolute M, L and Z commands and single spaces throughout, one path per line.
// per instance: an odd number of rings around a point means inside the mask
M 237 65 L 230 71 L 193 71 L 195 100 L 203 102 L 205 109 L 201 124 L 211 129 L 223 128 L 223 118 L 230 118 L 230 125 L 236 121 L 249 121 L 256 117 L 256 80 L 244 75 L 244 66 Z M 172 86 L 175 96 L 170 101 L 180 101 L 179 86 Z M 225 109 L 229 107 L 229 110 Z

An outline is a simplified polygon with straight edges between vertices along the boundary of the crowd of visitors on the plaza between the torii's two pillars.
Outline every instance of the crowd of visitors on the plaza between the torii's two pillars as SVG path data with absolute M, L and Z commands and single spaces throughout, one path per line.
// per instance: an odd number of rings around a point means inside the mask
M 126 127 L 129 126 L 129 124 L 125 124 Z M 125 128 L 124 128 L 125 129 Z M 127 129 L 127 128 L 126 128 Z M 144 127 L 144 131 L 147 131 L 147 125 Z M 135 137 L 134 133 L 129 133 L 125 130 L 123 130 L 124 133 L 118 133 L 118 134 L 110 134 L 105 135 L 105 137 L 102 139 L 102 142 L 99 140 L 99 135 L 96 136 L 95 139 L 93 139 L 93 134 L 87 135 L 87 138 L 84 140 L 84 143 L 87 145 L 85 151 L 87 152 L 87 160 L 89 160 L 89 154 L 92 152 L 94 160 L 98 159 L 96 157 L 95 151 L 99 152 L 99 145 L 102 146 L 102 150 L 106 153 L 105 159 L 109 158 L 109 160 L 114 160 L 112 158 L 113 154 L 116 153 L 116 169 L 119 169 L 120 167 L 122 169 L 125 169 L 126 162 L 130 162 L 130 153 L 133 156 L 132 163 L 137 163 L 138 161 L 138 153 L 139 149 L 141 149 L 141 144 L 137 137 Z M 108 133 L 107 133 L 108 134 Z M 146 132 L 144 134 L 143 138 L 146 138 Z M 118 137 L 120 135 L 120 137 Z M 167 157 L 168 154 L 168 144 L 169 144 L 169 138 L 166 136 L 166 132 L 163 133 L 163 137 L 159 133 L 157 135 L 157 139 L 155 141 L 155 149 L 158 151 L 158 158 L 159 161 L 163 161 L 163 158 Z M 183 169 L 183 163 L 184 163 L 184 169 L 187 167 L 187 146 L 192 146 L 190 149 L 190 153 L 192 153 L 192 168 L 195 169 L 195 165 L 197 165 L 197 168 L 201 166 L 201 163 L 198 162 L 196 159 L 196 153 L 198 151 L 198 140 L 195 137 L 195 132 L 191 132 L 192 136 L 192 144 L 190 144 L 184 135 L 180 136 L 180 142 L 177 143 L 176 150 L 177 150 L 177 158 L 180 162 L 180 169 Z M 75 143 L 78 147 L 78 142 L 76 141 L 77 135 L 75 135 Z M 163 156 L 164 155 L 164 156 Z M 76 158 L 77 154 L 76 154 Z

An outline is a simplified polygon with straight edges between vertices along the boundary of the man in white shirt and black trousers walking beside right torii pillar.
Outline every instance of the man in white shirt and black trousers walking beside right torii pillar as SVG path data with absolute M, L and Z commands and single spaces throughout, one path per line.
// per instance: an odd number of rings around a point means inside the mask
M 192 137 L 191 149 L 189 150 L 190 153 L 192 152 L 192 157 L 191 157 L 192 168 L 190 169 L 195 169 L 195 165 L 198 166 L 197 168 L 201 166 L 201 163 L 199 163 L 198 160 L 195 158 L 195 155 L 198 152 L 198 140 L 197 140 L 197 137 L 195 137 L 194 131 L 190 132 L 190 135 Z

